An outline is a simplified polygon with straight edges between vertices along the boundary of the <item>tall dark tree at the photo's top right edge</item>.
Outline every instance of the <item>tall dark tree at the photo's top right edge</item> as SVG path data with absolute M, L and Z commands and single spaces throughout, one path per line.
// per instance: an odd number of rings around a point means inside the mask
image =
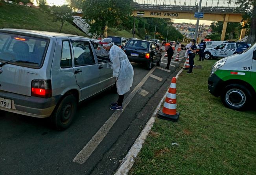
M 239 4 L 239 8 L 244 9 L 243 19 L 250 23 L 247 43 L 253 44 L 256 41 L 256 0 L 237 0 L 236 4 Z

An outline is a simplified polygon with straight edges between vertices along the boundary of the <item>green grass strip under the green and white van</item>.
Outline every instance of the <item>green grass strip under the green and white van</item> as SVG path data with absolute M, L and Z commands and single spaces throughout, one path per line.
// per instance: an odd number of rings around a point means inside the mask
M 197 60 L 202 69 L 177 79 L 179 121 L 156 119 L 130 175 L 256 173 L 256 111 L 226 108 L 208 92 L 216 60 Z

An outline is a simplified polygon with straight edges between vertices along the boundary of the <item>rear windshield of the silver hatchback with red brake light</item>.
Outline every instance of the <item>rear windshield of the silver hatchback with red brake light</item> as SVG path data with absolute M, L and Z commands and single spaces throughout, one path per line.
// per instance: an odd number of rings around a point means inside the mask
M 47 45 L 47 39 L 0 32 L 0 62 L 15 60 L 10 63 L 39 68 Z

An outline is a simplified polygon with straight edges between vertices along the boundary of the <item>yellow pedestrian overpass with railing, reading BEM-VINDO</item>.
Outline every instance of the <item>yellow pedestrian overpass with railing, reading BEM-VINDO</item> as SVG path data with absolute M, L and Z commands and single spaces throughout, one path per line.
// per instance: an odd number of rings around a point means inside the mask
M 226 34 L 228 22 L 243 22 L 244 9 L 239 8 L 237 0 L 203 0 L 200 20 L 223 21 L 221 40 Z M 199 0 L 133 0 L 133 16 L 196 20 Z M 248 9 L 249 10 L 249 7 Z M 245 29 L 241 30 L 240 39 L 244 38 Z

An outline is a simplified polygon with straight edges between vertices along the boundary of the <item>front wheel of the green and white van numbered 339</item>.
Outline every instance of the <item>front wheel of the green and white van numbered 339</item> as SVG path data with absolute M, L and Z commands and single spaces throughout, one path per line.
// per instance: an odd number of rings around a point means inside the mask
M 250 91 L 243 85 L 227 85 L 221 94 L 225 106 L 234 110 L 243 110 L 252 99 Z

